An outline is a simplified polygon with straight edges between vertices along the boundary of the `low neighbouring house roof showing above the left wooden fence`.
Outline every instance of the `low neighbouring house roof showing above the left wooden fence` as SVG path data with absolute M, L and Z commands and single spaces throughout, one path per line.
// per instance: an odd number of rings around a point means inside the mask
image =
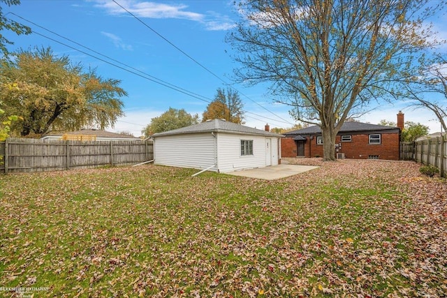
M 81 129 L 68 133 L 55 133 L 41 137 L 41 140 L 78 140 L 78 141 L 141 141 L 139 137 L 124 135 L 122 133 L 110 133 L 98 129 Z

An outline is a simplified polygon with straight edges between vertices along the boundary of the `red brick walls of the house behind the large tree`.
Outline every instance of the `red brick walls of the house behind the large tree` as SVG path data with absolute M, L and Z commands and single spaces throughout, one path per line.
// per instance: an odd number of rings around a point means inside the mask
M 346 158 L 367 159 L 369 155 L 378 155 L 379 159 L 398 161 L 399 133 L 381 133 L 381 144 L 369 144 L 369 134 L 352 135 L 351 142 L 342 142 L 342 137 L 337 135 L 335 142 L 341 143 L 339 153 L 344 153 Z M 296 144 L 290 137 L 281 139 L 281 156 L 295 157 Z M 305 142 L 305 157 L 323 157 L 323 145 L 316 144 L 316 137 Z

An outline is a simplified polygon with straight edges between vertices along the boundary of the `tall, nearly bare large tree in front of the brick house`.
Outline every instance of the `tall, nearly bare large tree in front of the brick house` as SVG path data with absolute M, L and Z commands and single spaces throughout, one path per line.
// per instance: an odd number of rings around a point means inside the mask
M 335 137 L 374 99 L 398 96 L 402 77 L 425 64 L 437 43 L 425 21 L 444 3 L 429 0 L 247 0 L 228 35 L 241 82 L 270 83 L 298 121 L 316 124 L 324 160 Z M 432 7 L 435 6 L 435 7 Z M 402 82 L 403 84 L 404 82 Z

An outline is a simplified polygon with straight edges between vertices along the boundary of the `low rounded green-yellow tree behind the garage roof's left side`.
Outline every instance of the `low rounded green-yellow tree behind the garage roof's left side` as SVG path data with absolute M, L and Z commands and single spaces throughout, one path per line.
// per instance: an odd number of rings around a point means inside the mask
M 177 110 L 169 107 L 169 110 L 159 117 L 152 118 L 151 123 L 147 124 L 141 133 L 145 137 L 149 137 L 154 133 L 163 133 L 163 131 L 171 131 L 193 124 L 198 124 L 198 114 L 191 115 L 184 109 Z

